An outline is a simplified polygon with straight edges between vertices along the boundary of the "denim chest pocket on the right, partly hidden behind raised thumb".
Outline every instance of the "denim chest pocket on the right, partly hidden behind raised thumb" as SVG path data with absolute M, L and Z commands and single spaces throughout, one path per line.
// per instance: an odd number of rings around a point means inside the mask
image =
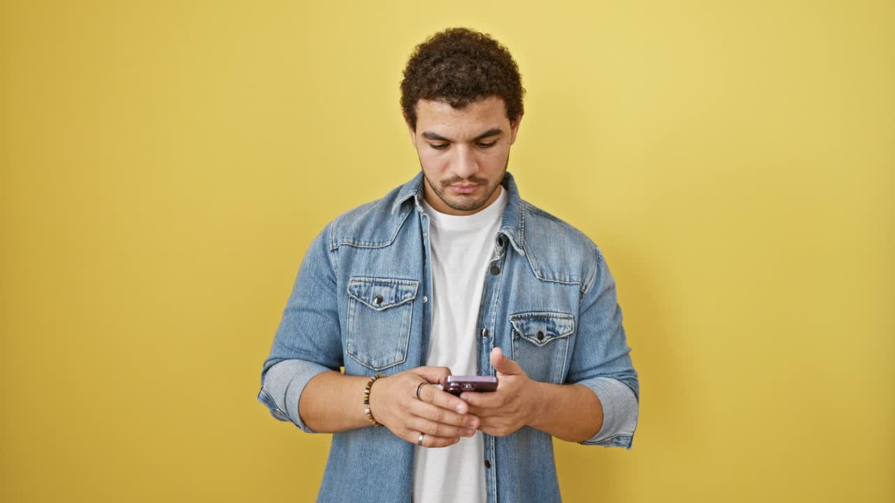
M 512 358 L 528 377 L 560 384 L 575 318 L 563 312 L 520 312 L 510 315 Z

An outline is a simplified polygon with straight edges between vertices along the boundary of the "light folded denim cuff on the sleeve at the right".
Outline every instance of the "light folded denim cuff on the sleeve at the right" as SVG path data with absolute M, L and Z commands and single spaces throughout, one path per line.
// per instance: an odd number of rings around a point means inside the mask
M 622 381 L 607 377 L 584 379 L 575 384 L 590 388 L 603 408 L 603 425 L 600 431 L 590 439 L 578 443 L 630 450 L 639 411 L 634 391 Z

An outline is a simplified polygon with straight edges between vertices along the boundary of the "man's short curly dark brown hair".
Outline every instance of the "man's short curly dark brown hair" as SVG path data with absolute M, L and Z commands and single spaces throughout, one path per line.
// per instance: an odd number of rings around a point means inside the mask
M 516 61 L 490 35 L 468 28 L 439 31 L 413 49 L 401 81 L 401 108 L 416 130 L 416 103 L 463 108 L 479 98 L 503 98 L 507 118 L 522 115 L 525 90 Z

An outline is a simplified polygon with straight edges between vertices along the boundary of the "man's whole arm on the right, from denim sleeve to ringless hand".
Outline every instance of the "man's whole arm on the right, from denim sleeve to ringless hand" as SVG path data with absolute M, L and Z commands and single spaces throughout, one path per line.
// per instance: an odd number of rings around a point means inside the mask
M 595 247 L 594 253 L 567 384 L 529 379 L 494 348 L 490 361 L 498 374 L 497 392 L 460 396 L 482 418 L 481 431 L 502 437 L 527 425 L 587 445 L 631 447 L 638 416 L 637 373 L 628 356 L 615 281 Z

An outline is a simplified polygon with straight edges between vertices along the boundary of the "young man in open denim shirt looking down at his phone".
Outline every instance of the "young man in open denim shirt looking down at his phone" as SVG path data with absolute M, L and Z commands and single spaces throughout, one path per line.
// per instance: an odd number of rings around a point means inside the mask
M 401 94 L 422 172 L 311 243 L 258 398 L 334 433 L 320 501 L 558 501 L 551 436 L 631 448 L 639 388 L 615 282 L 507 173 L 524 90 L 505 47 L 439 32 Z M 449 375 L 499 384 L 454 396 Z

